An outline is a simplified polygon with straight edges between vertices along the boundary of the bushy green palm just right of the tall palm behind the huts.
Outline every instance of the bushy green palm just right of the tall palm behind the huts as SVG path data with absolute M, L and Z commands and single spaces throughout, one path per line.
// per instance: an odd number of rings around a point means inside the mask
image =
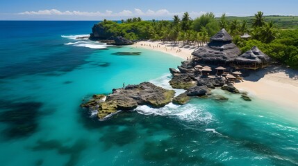
M 270 43 L 279 35 L 278 30 L 275 28 L 273 21 L 265 23 L 260 29 L 260 39 L 262 42 Z

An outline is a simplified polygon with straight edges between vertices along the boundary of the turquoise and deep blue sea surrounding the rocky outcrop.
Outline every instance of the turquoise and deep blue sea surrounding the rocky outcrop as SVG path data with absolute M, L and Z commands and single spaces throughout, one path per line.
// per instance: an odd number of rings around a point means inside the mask
M 78 107 L 83 99 L 123 82 L 170 89 L 168 68 L 181 62 L 75 39 L 95 23 L 0 21 L 1 165 L 298 165 L 295 110 L 256 97 L 217 89 L 229 101 L 194 98 L 90 118 Z

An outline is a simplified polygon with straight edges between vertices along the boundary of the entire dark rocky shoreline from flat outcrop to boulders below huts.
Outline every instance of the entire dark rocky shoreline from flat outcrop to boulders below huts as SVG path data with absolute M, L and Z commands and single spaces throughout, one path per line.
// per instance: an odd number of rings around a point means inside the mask
M 174 97 L 175 91 L 163 89 L 150 82 L 142 82 L 136 85 L 128 85 L 122 89 L 113 89 L 109 95 L 93 95 L 88 102 L 81 104 L 90 111 L 97 111 L 97 117 L 104 119 L 117 111 L 130 111 L 139 105 L 160 108 L 173 102 L 174 104 L 186 104 L 193 97 L 208 98 L 211 89 L 220 88 L 231 93 L 239 93 L 240 98 L 251 101 L 246 93 L 240 93 L 233 84 L 229 84 L 225 77 L 208 77 L 201 75 L 194 69 L 197 65 L 192 61 L 181 62 L 179 71 L 169 68 L 172 73 L 172 80 L 169 84 L 174 89 L 185 89 L 184 93 Z M 222 95 L 213 96 L 214 100 L 229 100 Z

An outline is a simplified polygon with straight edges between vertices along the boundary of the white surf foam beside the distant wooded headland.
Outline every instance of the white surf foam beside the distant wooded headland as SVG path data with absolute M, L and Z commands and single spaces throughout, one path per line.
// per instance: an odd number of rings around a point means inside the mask
M 89 37 L 90 35 L 62 35 L 61 37 L 71 39 L 74 42 L 68 42 L 65 45 L 68 46 L 78 46 L 78 47 L 87 47 L 92 49 L 103 49 L 107 48 L 108 45 L 104 43 L 99 43 L 97 41 L 91 41 L 89 39 L 81 39 L 78 37 Z

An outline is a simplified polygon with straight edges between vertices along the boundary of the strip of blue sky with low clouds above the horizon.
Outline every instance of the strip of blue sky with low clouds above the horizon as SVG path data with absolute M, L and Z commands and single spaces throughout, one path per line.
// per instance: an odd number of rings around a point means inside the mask
M 265 15 L 298 15 L 297 8 L 297 0 L 1 0 L 0 19 L 171 19 L 185 11 L 192 18 L 206 12 L 213 12 L 217 17 L 222 13 L 249 16 L 258 11 Z

